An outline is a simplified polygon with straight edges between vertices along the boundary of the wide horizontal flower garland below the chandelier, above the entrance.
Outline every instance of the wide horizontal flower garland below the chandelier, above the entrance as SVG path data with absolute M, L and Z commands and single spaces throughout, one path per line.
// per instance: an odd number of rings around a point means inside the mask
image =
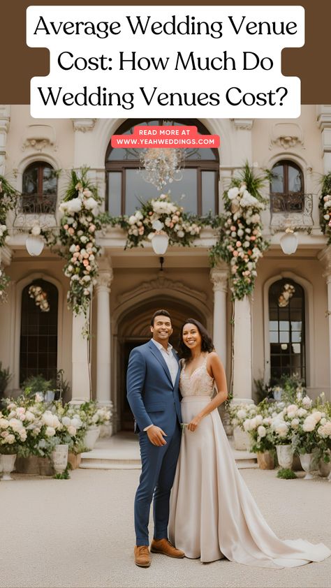
M 109 216 L 108 223 L 120 226 L 127 233 L 125 249 L 144 247 L 144 242 L 152 240 L 156 231 L 164 230 L 170 245 L 190 247 L 199 237 L 203 226 L 211 224 L 211 216 L 201 219 L 186 214 L 184 208 L 170 200 L 170 194 L 161 194 L 142 203 L 139 210 L 131 216 Z

